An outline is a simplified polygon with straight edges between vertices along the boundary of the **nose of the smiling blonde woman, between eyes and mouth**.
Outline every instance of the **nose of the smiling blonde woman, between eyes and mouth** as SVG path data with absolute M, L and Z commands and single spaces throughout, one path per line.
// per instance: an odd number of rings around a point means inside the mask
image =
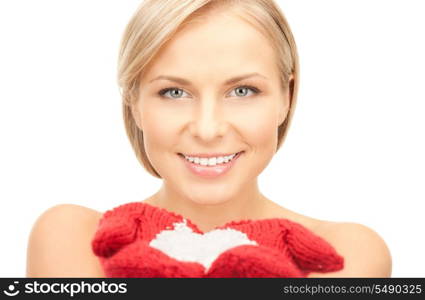
M 189 131 L 193 137 L 210 142 L 225 135 L 228 124 L 214 97 L 198 100 L 192 114 Z

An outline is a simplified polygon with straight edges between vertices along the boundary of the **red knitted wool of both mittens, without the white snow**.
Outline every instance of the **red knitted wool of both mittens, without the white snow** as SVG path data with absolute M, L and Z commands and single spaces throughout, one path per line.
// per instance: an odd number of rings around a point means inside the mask
M 149 242 L 183 216 L 143 202 L 106 211 L 91 246 L 105 277 L 208 278 L 306 277 L 310 272 L 338 271 L 344 258 L 304 226 L 282 218 L 231 221 L 215 229 L 239 230 L 258 245 L 239 245 L 222 252 L 208 270 L 198 262 L 179 261 Z M 204 234 L 190 220 L 193 232 Z

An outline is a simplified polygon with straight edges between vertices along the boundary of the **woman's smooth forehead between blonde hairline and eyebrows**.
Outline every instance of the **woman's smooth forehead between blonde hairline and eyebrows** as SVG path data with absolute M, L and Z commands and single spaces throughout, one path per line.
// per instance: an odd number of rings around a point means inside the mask
M 252 24 L 235 14 L 217 12 L 181 27 L 157 53 L 146 75 L 151 78 L 166 71 L 175 75 L 187 72 L 188 76 L 208 73 L 218 80 L 224 73 L 272 76 L 275 51 Z

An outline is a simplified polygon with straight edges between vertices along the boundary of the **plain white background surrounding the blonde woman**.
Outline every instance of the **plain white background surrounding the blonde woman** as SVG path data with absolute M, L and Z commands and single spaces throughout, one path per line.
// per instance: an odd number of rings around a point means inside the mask
M 105 211 L 154 193 L 124 131 L 121 34 L 140 1 L 0 2 L 0 276 L 24 277 L 51 206 Z M 263 193 L 377 231 L 394 277 L 424 276 L 424 1 L 282 0 L 301 64 Z M 364 245 L 367 247 L 367 245 Z

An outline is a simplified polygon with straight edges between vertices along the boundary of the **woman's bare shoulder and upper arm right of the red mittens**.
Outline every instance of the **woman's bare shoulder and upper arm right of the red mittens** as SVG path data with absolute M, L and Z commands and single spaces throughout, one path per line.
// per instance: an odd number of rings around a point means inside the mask
M 390 250 L 377 232 L 358 223 L 318 220 L 316 224 L 315 233 L 344 257 L 344 269 L 310 277 L 391 277 Z

